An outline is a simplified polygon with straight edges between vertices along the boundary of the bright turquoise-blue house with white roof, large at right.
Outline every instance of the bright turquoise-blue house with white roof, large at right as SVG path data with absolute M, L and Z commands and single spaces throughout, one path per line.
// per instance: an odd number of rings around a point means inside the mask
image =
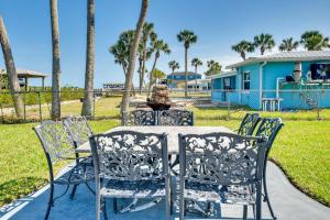
M 213 102 L 252 109 L 330 108 L 330 52 L 282 52 L 228 66 L 212 77 Z

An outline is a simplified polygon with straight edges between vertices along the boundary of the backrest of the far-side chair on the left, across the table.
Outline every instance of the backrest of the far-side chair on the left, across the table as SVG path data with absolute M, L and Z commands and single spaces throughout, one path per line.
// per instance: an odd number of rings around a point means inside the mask
M 123 112 L 121 124 L 125 127 L 156 125 L 156 112 L 142 109 Z

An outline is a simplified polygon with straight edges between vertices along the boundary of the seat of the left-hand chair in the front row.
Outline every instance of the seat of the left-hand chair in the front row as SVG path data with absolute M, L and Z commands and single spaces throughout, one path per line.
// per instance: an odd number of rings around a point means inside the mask
M 108 180 L 100 195 L 108 198 L 155 198 L 165 197 L 165 180 Z

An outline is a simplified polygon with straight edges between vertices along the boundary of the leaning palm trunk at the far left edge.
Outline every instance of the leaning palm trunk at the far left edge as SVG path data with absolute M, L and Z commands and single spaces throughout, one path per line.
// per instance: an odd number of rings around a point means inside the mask
M 8 80 L 9 80 L 9 88 L 10 92 L 14 102 L 14 109 L 16 117 L 22 119 L 24 116 L 23 113 L 23 101 L 22 101 L 22 96 L 19 94 L 20 92 L 20 84 L 19 84 L 19 77 L 16 74 L 16 68 L 15 64 L 12 57 L 11 53 L 11 47 L 9 43 L 9 38 L 7 35 L 7 30 L 3 23 L 2 18 L 0 16 L 0 43 L 2 47 L 2 53 L 3 53 L 3 59 L 6 63 L 6 69 L 7 69 L 7 75 L 8 75 Z

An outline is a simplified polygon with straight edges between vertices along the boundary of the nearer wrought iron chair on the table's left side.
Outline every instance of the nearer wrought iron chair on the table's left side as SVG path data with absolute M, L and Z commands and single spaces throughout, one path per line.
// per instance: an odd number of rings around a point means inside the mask
M 90 158 L 77 157 L 73 139 L 70 138 L 67 128 L 64 127 L 62 122 L 44 121 L 33 129 L 41 141 L 48 164 L 51 189 L 48 207 L 44 218 L 48 219 L 51 208 L 54 206 L 55 200 L 63 197 L 68 191 L 69 186 L 86 184 L 90 191 L 94 193 L 88 185 L 88 182 L 95 179 L 94 167 Z M 53 165 L 61 161 L 73 161 L 76 162 L 76 164 L 55 178 Z M 56 198 L 54 198 L 55 185 L 66 185 L 64 193 Z M 70 198 L 73 197 L 74 191 L 70 195 Z

